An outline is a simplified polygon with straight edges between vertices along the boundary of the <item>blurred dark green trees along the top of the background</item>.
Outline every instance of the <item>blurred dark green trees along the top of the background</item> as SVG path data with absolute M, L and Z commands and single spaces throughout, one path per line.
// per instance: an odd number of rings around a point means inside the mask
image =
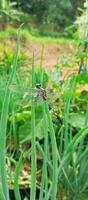
M 82 14 L 84 0 L 1 0 L 0 19 L 37 24 L 51 31 L 60 31 L 72 25 Z M 80 9 L 79 9 L 80 8 Z M 5 26 L 5 24 L 3 25 Z

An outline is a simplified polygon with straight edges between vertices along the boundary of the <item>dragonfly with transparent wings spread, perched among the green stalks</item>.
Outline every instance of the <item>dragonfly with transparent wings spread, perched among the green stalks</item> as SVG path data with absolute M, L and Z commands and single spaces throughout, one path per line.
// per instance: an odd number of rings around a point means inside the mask
M 6 89 L 6 83 L 3 85 L 3 82 L 0 84 L 0 93 L 1 96 L 4 95 Z M 61 87 L 61 86 L 60 86 Z M 23 82 L 17 80 L 16 82 L 8 86 L 8 90 L 11 91 L 12 102 L 17 106 L 28 107 L 31 106 L 33 101 L 35 105 L 40 106 L 43 102 L 48 102 L 50 106 L 53 107 L 53 104 L 59 101 L 60 91 L 57 88 L 43 87 L 40 83 L 36 83 L 35 87 L 30 87 L 30 85 L 25 85 Z

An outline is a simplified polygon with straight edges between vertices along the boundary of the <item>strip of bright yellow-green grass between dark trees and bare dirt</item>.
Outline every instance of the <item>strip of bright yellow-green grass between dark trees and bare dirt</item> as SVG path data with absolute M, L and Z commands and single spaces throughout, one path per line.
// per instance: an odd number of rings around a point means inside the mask
M 14 27 L 9 27 L 6 29 L 6 31 L 2 30 L 0 31 L 0 38 L 4 39 L 6 37 L 12 36 L 13 38 L 16 36 L 16 30 Z M 40 41 L 40 42 L 58 42 L 58 43 L 69 43 L 68 39 L 64 38 L 61 34 L 58 32 L 46 32 L 44 34 L 41 34 L 40 29 L 22 29 L 20 32 L 21 36 L 23 38 L 28 38 L 30 40 Z

